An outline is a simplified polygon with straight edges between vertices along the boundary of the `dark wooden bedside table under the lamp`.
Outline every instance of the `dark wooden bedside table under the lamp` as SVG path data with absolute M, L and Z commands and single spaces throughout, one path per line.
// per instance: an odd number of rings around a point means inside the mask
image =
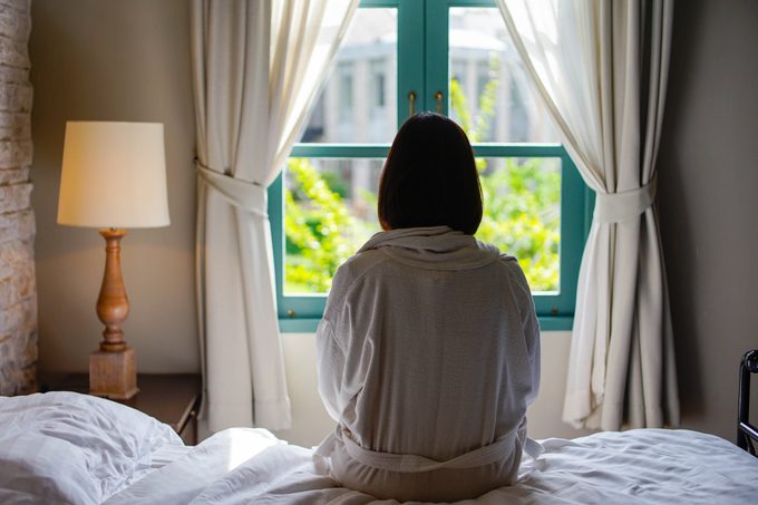
M 43 382 L 41 382 L 43 383 Z M 128 400 L 111 400 L 127 405 L 167 424 L 187 445 L 197 444 L 197 409 L 202 381 L 197 373 L 138 373 L 139 392 Z M 89 376 L 70 373 L 60 381 L 50 381 L 42 390 L 89 394 Z

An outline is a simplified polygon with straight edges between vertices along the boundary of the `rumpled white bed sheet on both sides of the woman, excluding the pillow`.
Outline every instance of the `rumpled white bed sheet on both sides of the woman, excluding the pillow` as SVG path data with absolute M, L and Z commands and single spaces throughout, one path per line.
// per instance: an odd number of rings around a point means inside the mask
M 758 503 L 758 458 L 721 438 L 638 429 L 543 441 L 517 484 L 459 504 Z M 108 504 L 396 504 L 339 485 L 312 450 L 265 430 L 214 435 Z

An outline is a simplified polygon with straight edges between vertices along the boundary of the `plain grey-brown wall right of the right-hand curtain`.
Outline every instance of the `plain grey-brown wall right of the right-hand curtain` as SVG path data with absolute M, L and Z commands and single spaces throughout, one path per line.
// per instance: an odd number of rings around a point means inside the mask
M 682 425 L 728 439 L 739 359 L 758 348 L 756 27 L 754 0 L 677 2 L 659 154 Z

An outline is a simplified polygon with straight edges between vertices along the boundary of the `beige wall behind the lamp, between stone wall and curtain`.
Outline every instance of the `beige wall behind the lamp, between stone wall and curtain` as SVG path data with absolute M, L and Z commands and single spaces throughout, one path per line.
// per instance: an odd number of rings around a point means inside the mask
M 105 242 L 56 224 L 67 120 L 165 125 L 165 229 L 122 242 L 130 301 L 124 338 L 139 371 L 200 369 L 194 299 L 194 105 L 186 0 L 35 0 L 30 52 L 36 103 L 32 204 L 37 213 L 39 366 L 86 371 L 103 326 L 95 313 Z

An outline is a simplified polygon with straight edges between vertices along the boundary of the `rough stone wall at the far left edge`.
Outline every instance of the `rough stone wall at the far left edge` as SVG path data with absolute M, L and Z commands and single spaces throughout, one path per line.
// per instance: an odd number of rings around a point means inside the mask
M 0 396 L 36 390 L 30 0 L 0 0 Z

